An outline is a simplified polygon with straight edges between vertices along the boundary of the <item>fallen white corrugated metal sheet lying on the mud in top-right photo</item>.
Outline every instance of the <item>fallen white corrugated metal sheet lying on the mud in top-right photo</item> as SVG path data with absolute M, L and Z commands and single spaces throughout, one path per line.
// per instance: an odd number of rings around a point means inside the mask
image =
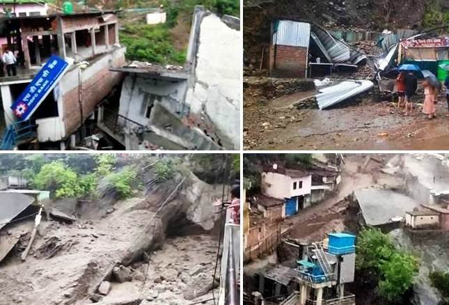
M 368 91 L 373 86 L 372 81 L 342 81 L 335 86 L 320 89 L 315 97 L 317 98 L 318 107 L 326 109 L 349 97 Z

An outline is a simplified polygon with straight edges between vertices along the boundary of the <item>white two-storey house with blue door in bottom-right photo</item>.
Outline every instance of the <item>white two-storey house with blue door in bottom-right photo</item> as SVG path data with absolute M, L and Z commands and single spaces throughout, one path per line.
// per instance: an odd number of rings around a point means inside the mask
M 290 217 L 310 205 L 312 174 L 272 164 L 262 172 L 261 189 L 273 201 L 283 201 L 282 218 Z

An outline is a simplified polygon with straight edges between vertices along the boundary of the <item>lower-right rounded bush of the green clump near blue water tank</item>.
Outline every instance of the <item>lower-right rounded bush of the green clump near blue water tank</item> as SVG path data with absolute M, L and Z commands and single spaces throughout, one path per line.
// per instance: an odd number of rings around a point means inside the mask
M 391 254 L 381 265 L 383 279 L 379 281 L 379 295 L 388 302 L 400 302 L 402 295 L 411 287 L 413 276 L 418 272 L 418 259 L 404 252 Z

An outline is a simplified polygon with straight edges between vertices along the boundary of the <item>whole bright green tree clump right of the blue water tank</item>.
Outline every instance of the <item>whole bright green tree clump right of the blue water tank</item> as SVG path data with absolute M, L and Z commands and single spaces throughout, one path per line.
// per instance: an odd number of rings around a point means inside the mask
M 365 228 L 357 240 L 356 268 L 379 276 L 379 295 L 400 302 L 419 268 L 418 259 L 395 249 L 390 237 L 378 229 Z

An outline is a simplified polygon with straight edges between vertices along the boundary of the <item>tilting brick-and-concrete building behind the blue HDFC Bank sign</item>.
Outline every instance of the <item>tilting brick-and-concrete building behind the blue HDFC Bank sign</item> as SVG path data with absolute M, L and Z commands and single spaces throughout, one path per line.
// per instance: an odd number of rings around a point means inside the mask
M 65 149 L 70 136 L 74 146 L 85 136 L 77 137 L 79 127 L 93 117 L 97 103 L 122 77 L 120 72 L 109 71 L 111 66 L 125 63 L 125 48 L 118 44 L 116 12 L 20 16 L 2 22 L 8 47 L 15 51 L 20 64 L 17 76 L 0 77 L 0 131 L 13 126 L 15 133 L 13 143 L 3 149 L 21 143 L 26 146 L 31 139 L 44 147 Z M 72 65 L 30 120 L 18 122 L 10 107 L 52 55 Z M 26 136 L 21 134 L 24 123 Z

